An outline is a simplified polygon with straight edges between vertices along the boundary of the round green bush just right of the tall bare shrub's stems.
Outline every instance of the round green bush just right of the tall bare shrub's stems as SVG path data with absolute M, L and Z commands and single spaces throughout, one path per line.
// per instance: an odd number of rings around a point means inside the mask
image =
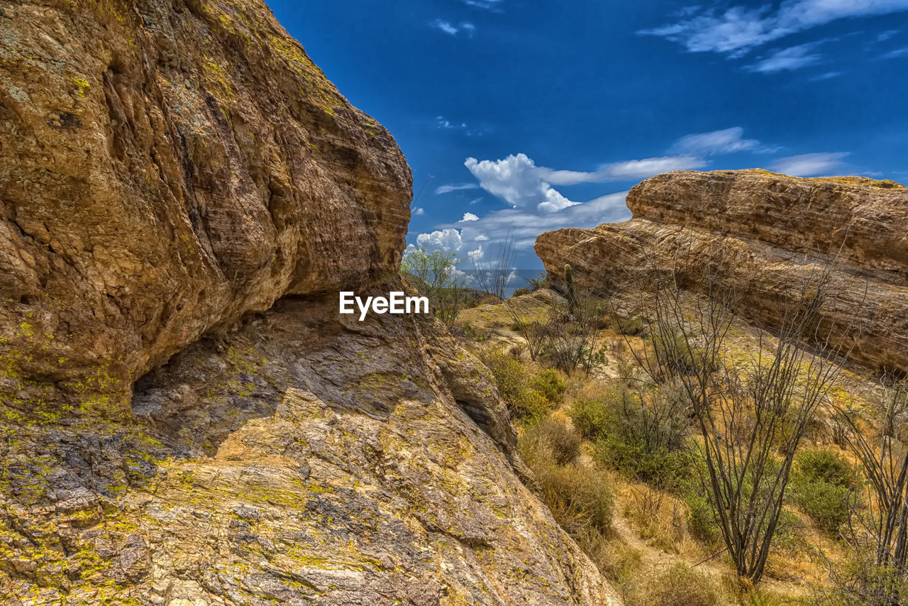
M 835 533 L 848 521 L 857 486 L 854 469 L 834 452 L 809 450 L 795 455 L 792 499 L 824 531 Z

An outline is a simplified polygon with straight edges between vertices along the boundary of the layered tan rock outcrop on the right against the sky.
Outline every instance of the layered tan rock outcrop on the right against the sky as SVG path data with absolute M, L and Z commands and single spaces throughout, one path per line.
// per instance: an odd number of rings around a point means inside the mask
M 693 285 L 720 269 L 720 288 L 770 327 L 805 280 L 830 267 L 823 334 L 845 336 L 854 361 L 908 371 L 908 189 L 864 177 L 803 179 L 761 170 L 660 174 L 627 195 L 633 219 L 543 233 L 550 275 L 570 263 L 599 291 L 628 271 L 676 267 Z M 853 326 L 847 329 L 847 324 Z

